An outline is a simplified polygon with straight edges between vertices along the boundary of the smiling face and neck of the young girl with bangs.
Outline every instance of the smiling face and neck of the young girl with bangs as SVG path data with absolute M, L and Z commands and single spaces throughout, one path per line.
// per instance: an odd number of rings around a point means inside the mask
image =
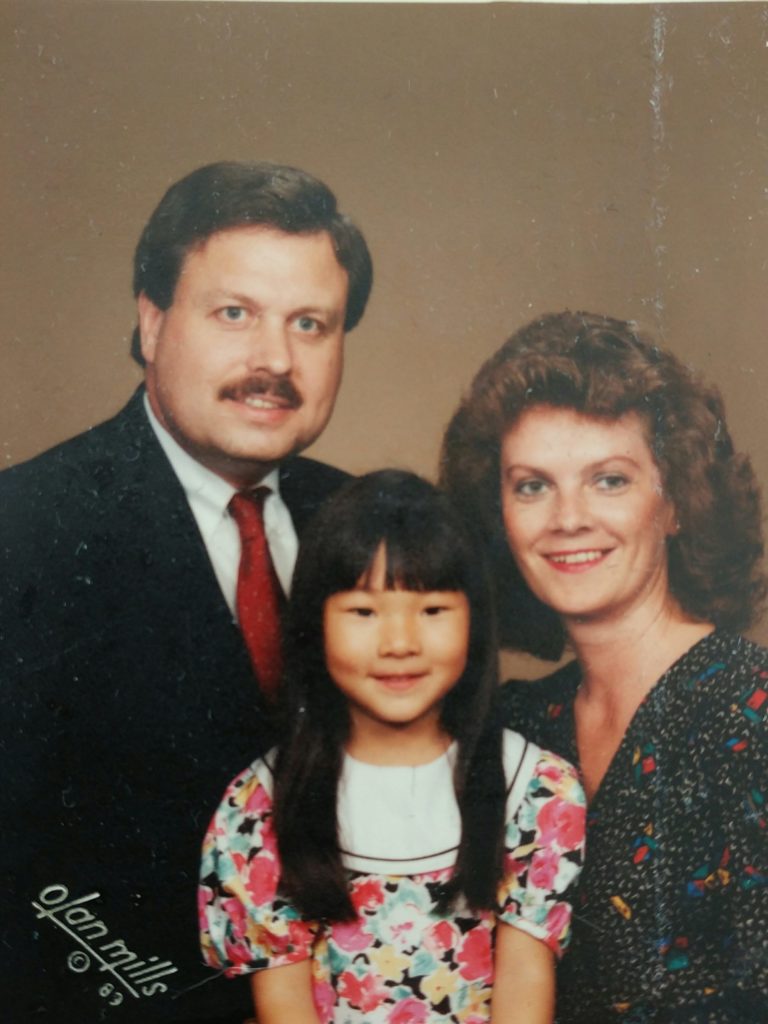
M 383 546 L 365 583 L 326 601 L 326 664 L 353 738 L 439 732 L 440 702 L 467 664 L 469 614 L 461 592 L 388 590 Z

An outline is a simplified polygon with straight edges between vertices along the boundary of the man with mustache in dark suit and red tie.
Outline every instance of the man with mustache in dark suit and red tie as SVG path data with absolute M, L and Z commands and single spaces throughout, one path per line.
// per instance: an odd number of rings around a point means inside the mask
M 331 416 L 371 280 L 308 174 L 193 172 L 136 250 L 144 387 L 0 474 L 3 1021 L 248 1016 L 247 986 L 202 967 L 200 843 L 270 742 L 276 591 L 345 477 L 297 453 Z M 260 584 L 238 503 L 257 509 Z M 246 624 L 241 601 L 272 617 Z

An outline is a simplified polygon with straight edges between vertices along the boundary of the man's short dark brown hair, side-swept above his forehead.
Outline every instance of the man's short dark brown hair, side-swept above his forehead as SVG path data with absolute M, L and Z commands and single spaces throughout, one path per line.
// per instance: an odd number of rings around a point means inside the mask
M 248 226 L 289 234 L 327 231 L 349 276 L 344 330 L 355 327 L 373 283 L 366 240 L 338 211 L 328 185 L 306 171 L 280 164 L 208 164 L 171 185 L 138 240 L 133 257 L 134 296 L 143 292 L 159 309 L 168 309 L 187 254 L 217 231 Z M 133 332 L 131 355 L 143 366 L 138 328 Z

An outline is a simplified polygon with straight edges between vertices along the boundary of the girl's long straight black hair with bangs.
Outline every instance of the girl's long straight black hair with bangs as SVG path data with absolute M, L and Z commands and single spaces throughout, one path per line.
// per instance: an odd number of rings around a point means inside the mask
M 274 825 L 281 891 L 307 919 L 354 916 L 336 817 L 349 733 L 346 698 L 325 663 L 327 599 L 353 590 L 384 545 L 386 585 L 461 591 L 469 601 L 467 667 L 445 696 L 441 724 L 457 740 L 454 784 L 462 834 L 442 909 L 463 895 L 493 908 L 504 857 L 506 783 L 493 599 L 481 553 L 450 500 L 413 473 L 383 470 L 347 484 L 305 534 L 286 627 L 282 740 L 275 763 Z

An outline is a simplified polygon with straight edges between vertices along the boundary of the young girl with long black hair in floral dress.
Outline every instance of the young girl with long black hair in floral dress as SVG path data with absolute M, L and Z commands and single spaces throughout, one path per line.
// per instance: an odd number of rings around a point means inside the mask
M 369 474 L 314 520 L 289 726 L 203 852 L 204 953 L 252 973 L 259 1024 L 551 1021 L 584 795 L 498 726 L 493 617 L 466 527 L 419 477 Z

